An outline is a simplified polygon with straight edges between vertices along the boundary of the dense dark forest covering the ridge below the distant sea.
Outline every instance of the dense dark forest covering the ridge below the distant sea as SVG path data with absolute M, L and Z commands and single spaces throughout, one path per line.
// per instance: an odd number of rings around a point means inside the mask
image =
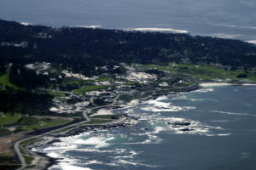
M 247 42 L 189 34 L 22 26 L 0 20 L 1 63 L 46 61 L 86 76 L 98 65 L 190 61 L 255 67 L 256 47 Z

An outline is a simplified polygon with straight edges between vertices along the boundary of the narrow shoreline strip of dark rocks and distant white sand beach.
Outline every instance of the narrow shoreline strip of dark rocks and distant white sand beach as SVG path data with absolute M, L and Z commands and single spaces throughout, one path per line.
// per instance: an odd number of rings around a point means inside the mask
M 214 81 L 213 82 L 197 82 L 195 84 L 190 85 L 189 87 L 176 88 L 176 89 L 170 91 L 168 94 L 177 94 L 180 92 L 188 92 L 189 93 L 189 92 L 193 92 L 200 88 L 218 87 L 218 86 L 256 86 L 256 84 L 252 83 L 252 82 L 214 82 Z M 157 99 L 158 97 L 163 96 L 163 95 L 166 95 L 166 93 L 157 93 L 157 94 L 154 94 L 151 96 L 147 96 L 143 99 L 138 99 L 137 104 L 139 104 L 145 100 L 148 100 L 148 99 Z M 127 106 L 127 105 L 129 106 L 129 103 L 126 105 L 114 105 L 112 108 L 125 108 L 125 106 Z M 103 107 L 104 106 L 102 106 L 102 108 Z M 121 122 L 119 122 L 120 119 L 122 119 L 122 117 L 124 117 L 124 116 L 126 118 L 123 119 Z M 124 114 L 119 119 L 117 119 L 113 122 L 79 125 L 79 127 L 74 127 L 73 129 L 67 130 L 66 132 L 61 133 L 61 134 L 60 133 L 57 133 L 57 134 L 43 133 L 41 137 L 50 135 L 51 139 L 43 139 L 43 141 L 41 141 L 40 144 L 37 144 L 37 142 L 34 142 L 29 147 L 30 149 L 28 149 L 28 148 L 27 149 L 29 151 L 33 152 L 35 155 L 41 156 L 41 159 L 44 160 L 43 162 L 42 161 L 38 162 L 39 166 L 36 169 L 38 169 L 38 170 L 48 169 L 49 167 L 57 164 L 60 159 L 47 156 L 47 153 L 32 151 L 32 148 L 40 147 L 43 144 L 53 144 L 55 142 L 60 141 L 59 138 L 61 138 L 61 137 L 78 135 L 80 133 L 89 132 L 89 131 L 93 131 L 93 130 L 96 131 L 97 128 L 111 129 L 112 127 L 125 127 L 126 126 L 125 122 L 132 118 L 133 118 L 132 116 L 127 116 Z M 115 122 L 117 122 L 117 123 L 115 123 Z M 58 129 L 55 129 L 55 131 L 57 131 L 57 130 Z M 27 166 L 29 166 L 29 165 L 27 165 Z M 44 167 L 44 168 L 40 168 L 40 167 Z

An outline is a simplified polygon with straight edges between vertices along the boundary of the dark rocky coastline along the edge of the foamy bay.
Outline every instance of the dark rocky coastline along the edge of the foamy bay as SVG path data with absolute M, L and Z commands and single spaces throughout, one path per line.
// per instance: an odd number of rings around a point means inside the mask
M 229 83 L 230 85 L 237 85 L 237 83 Z M 241 85 L 241 84 L 239 84 Z M 197 89 L 203 88 L 203 86 L 201 86 L 200 83 L 196 83 L 193 84 L 189 87 L 186 88 L 177 88 L 176 90 L 170 91 L 168 94 L 177 94 L 177 93 L 181 93 L 181 92 L 192 92 L 195 91 Z M 146 98 L 140 99 L 139 102 L 143 102 L 146 101 L 148 99 L 157 99 L 158 97 L 162 96 L 162 95 L 166 95 L 166 92 L 163 93 L 157 93 L 154 94 L 152 96 L 148 96 Z M 122 105 L 117 105 L 117 106 L 113 106 L 111 109 L 117 109 L 117 108 L 122 108 L 124 106 Z M 118 120 L 121 120 L 120 122 Z M 53 144 L 55 142 L 60 142 L 61 137 L 68 137 L 68 136 L 74 136 L 74 135 L 79 135 L 80 133 L 84 133 L 84 132 L 89 132 L 89 131 L 97 131 L 99 129 L 112 129 L 112 128 L 117 128 L 117 127 L 126 127 L 126 126 L 130 126 L 129 121 L 131 121 L 132 119 L 137 119 L 136 117 L 133 116 L 127 116 L 127 115 L 123 115 L 121 116 L 118 120 L 115 120 L 113 122 L 107 122 L 107 123 L 99 123 L 99 124 L 84 124 L 84 125 L 80 125 L 79 127 L 75 127 L 71 130 L 67 130 L 67 132 L 65 133 L 56 133 L 56 134 L 46 134 L 44 135 L 44 137 L 42 137 L 42 139 L 39 142 L 35 142 L 32 143 L 29 147 L 26 147 L 26 149 L 32 151 L 32 148 L 37 148 L 42 146 L 43 144 Z M 177 124 L 177 126 L 180 125 L 184 125 L 186 126 L 187 124 Z M 184 129 L 186 130 L 186 129 Z M 41 153 L 38 151 L 32 151 L 34 152 L 36 155 L 43 157 L 44 161 L 39 162 L 39 166 L 37 168 L 34 169 L 48 169 L 49 167 L 57 164 L 60 159 L 58 158 L 53 158 L 50 156 L 47 156 L 46 153 Z M 42 165 L 41 165 L 42 164 Z M 43 165 L 44 164 L 44 165 Z M 44 167 L 44 168 L 42 168 Z

